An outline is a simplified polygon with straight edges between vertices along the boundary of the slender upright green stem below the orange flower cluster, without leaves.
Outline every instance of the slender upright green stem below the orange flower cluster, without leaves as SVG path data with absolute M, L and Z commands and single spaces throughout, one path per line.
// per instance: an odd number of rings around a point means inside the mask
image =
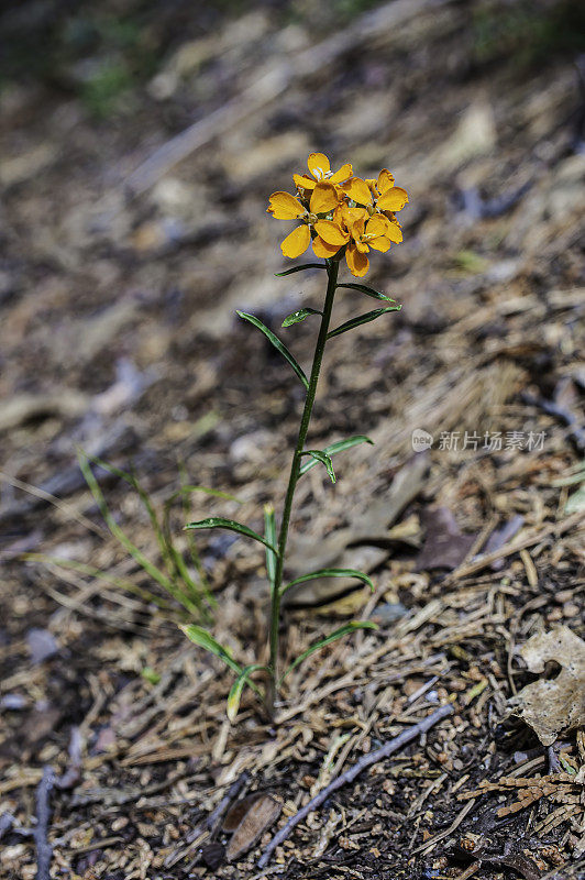
M 274 578 L 274 587 L 272 593 L 271 605 L 271 659 L 268 663 L 269 671 L 269 688 L 267 693 L 267 705 L 271 714 L 274 713 L 274 701 L 276 697 L 276 686 L 278 680 L 278 628 L 280 623 L 280 587 L 283 585 L 283 571 L 285 564 L 286 543 L 288 539 L 288 527 L 290 524 L 290 514 L 292 512 L 292 501 L 295 497 L 295 490 L 299 479 L 299 468 L 302 451 L 305 449 L 305 440 L 309 430 L 311 420 L 312 407 L 314 404 L 314 396 L 317 394 L 317 383 L 319 382 L 319 373 L 321 371 L 321 363 L 323 360 L 323 351 L 327 342 L 327 334 L 329 332 L 329 323 L 331 321 L 331 311 L 333 310 L 333 298 L 335 296 L 335 288 L 338 284 L 339 263 L 327 261 L 327 294 L 325 302 L 323 306 L 323 314 L 321 317 L 321 327 L 319 329 L 319 337 L 314 346 L 314 355 L 311 367 L 311 376 L 309 380 L 309 388 L 305 399 L 305 408 L 300 419 L 300 428 L 297 438 L 297 446 L 292 455 L 290 464 L 290 476 L 288 477 L 288 488 L 285 497 L 285 506 L 283 508 L 283 520 L 280 522 L 280 531 L 278 535 L 278 557 L 276 559 L 276 572 Z

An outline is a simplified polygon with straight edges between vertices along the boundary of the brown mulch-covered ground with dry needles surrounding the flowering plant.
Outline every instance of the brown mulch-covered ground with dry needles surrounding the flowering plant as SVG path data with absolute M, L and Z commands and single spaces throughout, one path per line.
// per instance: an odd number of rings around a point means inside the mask
M 162 6 L 56 3 L 67 51 L 0 95 L 0 872 L 583 877 L 577 4 Z M 316 448 L 374 446 L 336 457 L 334 486 L 303 477 L 288 561 L 375 591 L 291 590 L 283 662 L 378 628 L 295 669 L 275 717 L 244 692 L 231 724 L 231 673 L 107 527 L 76 448 L 135 474 L 214 636 L 265 661 L 263 553 L 199 534 L 197 571 L 183 526 L 258 530 L 282 504 L 302 389 L 234 309 L 309 361 L 310 321 L 279 327 L 319 307 L 323 273 L 274 277 L 289 228 L 265 208 L 316 148 L 389 167 L 410 204 L 367 279 L 402 309 L 331 341 L 311 427 Z M 340 292 L 339 323 L 364 300 Z M 140 494 L 95 475 L 161 562 Z

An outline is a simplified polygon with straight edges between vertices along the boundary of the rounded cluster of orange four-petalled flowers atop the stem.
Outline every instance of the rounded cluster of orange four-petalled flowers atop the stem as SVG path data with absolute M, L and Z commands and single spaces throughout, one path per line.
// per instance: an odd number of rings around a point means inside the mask
M 367 253 L 387 251 L 402 241 L 396 212 L 408 201 L 405 189 L 394 185 L 394 176 L 383 168 L 377 179 L 353 176 L 350 164 L 339 172 L 323 153 L 311 153 L 309 174 L 295 174 L 297 187 L 290 193 L 273 193 L 266 209 L 276 220 L 298 220 L 280 248 L 285 256 L 300 256 L 312 240 L 316 256 L 330 260 L 345 254 L 352 275 L 363 277 Z

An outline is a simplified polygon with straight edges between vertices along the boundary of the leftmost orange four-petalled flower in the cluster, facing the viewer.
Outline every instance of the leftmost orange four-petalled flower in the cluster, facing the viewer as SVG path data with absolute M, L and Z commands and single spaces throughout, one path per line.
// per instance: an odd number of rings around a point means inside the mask
M 325 260 L 333 256 L 345 244 L 349 234 L 340 230 L 330 217 L 339 205 L 335 186 L 329 183 L 316 184 L 306 208 L 289 193 L 273 193 L 266 209 L 276 220 L 300 220 L 300 226 L 290 232 L 280 245 L 285 256 L 300 256 L 310 244 L 313 233 L 313 251 Z

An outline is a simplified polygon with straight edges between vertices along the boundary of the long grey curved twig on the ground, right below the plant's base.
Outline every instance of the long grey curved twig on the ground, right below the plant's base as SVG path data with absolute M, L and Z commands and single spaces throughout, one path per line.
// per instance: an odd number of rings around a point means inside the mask
M 258 868 L 266 867 L 276 847 L 287 839 L 292 828 L 295 828 L 299 822 L 302 822 L 302 820 L 306 818 L 309 813 L 312 813 L 313 810 L 317 810 L 319 806 L 321 806 L 321 804 L 327 801 L 327 799 L 334 791 L 338 791 L 338 789 L 341 789 L 343 785 L 353 782 L 353 780 L 367 767 L 372 767 L 372 765 L 384 760 L 384 758 L 387 758 L 389 755 L 393 755 L 395 751 L 401 749 L 402 746 L 406 746 L 407 743 L 410 743 L 421 734 L 430 730 L 431 727 L 433 727 L 443 718 L 446 718 L 446 716 L 451 715 L 452 712 L 453 706 L 448 703 L 434 712 L 431 712 L 427 718 L 423 718 L 421 722 L 418 722 L 418 724 L 412 725 L 412 727 L 410 727 L 408 730 L 402 730 L 399 736 L 390 739 L 390 741 L 386 743 L 386 745 L 382 746 L 382 748 L 371 751 L 368 755 L 364 755 L 362 758 L 360 758 L 360 760 L 356 761 L 353 767 L 330 782 L 329 785 L 319 792 L 319 794 L 316 794 L 316 796 L 312 798 L 309 803 L 302 807 L 302 810 L 299 810 L 298 813 L 295 813 L 295 815 L 288 820 L 284 828 L 280 828 L 278 834 L 275 834 L 258 861 Z

